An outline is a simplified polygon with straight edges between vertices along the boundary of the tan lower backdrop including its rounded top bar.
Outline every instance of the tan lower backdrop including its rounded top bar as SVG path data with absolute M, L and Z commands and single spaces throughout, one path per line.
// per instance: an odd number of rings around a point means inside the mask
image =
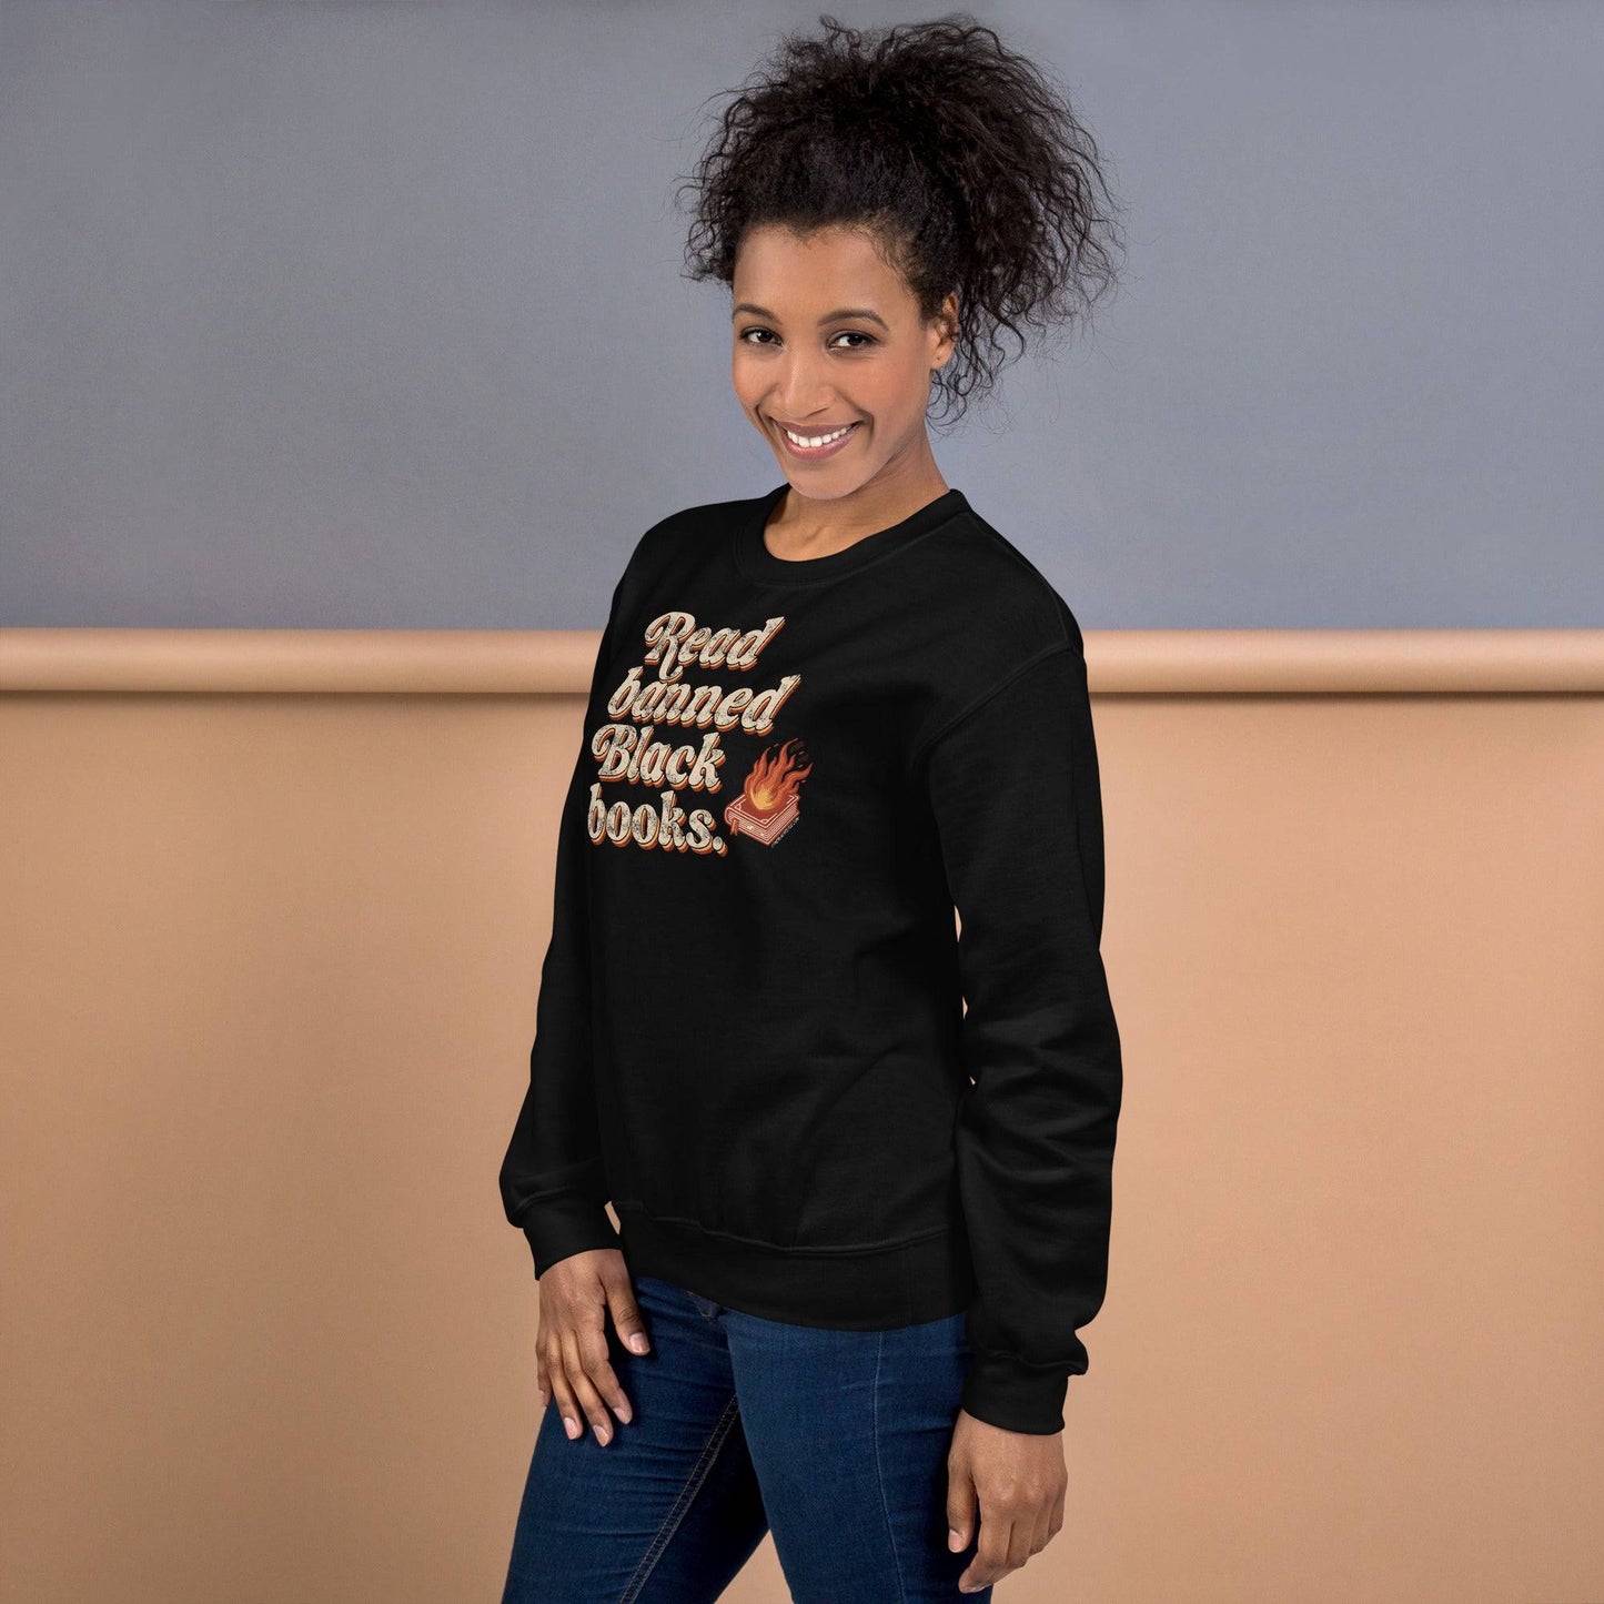
M 0 632 L 0 1596 L 499 1596 L 593 643 Z M 1112 1278 L 999 1596 L 1604 1599 L 1604 630 L 1088 659 Z

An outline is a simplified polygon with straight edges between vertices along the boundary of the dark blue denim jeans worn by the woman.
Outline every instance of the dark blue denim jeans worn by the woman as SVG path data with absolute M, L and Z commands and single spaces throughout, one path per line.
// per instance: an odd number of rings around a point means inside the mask
M 770 1529 L 796 1604 L 990 1604 L 946 1548 L 961 1312 L 836 1331 L 632 1280 L 651 1352 L 606 1335 L 634 1420 L 603 1447 L 545 1408 L 502 1604 L 701 1604 Z

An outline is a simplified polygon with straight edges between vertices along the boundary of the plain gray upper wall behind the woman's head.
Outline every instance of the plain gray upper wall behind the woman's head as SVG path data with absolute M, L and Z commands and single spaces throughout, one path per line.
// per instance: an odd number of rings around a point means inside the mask
M 783 476 L 670 191 L 820 10 L 5 3 L 0 624 L 600 626 Z M 1083 624 L 1604 626 L 1604 6 L 974 10 L 1128 205 L 935 436 Z

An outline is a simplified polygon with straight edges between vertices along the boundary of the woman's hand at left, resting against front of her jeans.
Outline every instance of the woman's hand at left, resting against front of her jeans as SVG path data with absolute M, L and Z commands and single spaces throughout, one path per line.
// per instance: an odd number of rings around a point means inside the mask
M 541 1275 L 541 1330 L 534 1339 L 541 1407 L 549 1394 L 557 1395 L 569 1439 L 584 1436 L 584 1412 L 603 1447 L 613 1440 L 608 1407 L 626 1426 L 632 1418 L 608 1359 L 608 1310 L 630 1352 L 651 1349 L 621 1248 L 571 1253 Z

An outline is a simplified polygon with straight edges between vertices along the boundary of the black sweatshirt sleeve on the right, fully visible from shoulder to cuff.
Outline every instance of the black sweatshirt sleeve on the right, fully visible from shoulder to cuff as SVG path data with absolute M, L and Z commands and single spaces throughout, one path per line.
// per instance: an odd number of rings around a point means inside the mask
M 954 715 L 926 759 L 975 1083 L 954 1132 L 977 1285 L 962 1407 L 1007 1431 L 1055 1432 L 1068 1378 L 1088 1368 L 1076 1330 L 1107 1285 L 1123 1083 L 1078 629 Z

